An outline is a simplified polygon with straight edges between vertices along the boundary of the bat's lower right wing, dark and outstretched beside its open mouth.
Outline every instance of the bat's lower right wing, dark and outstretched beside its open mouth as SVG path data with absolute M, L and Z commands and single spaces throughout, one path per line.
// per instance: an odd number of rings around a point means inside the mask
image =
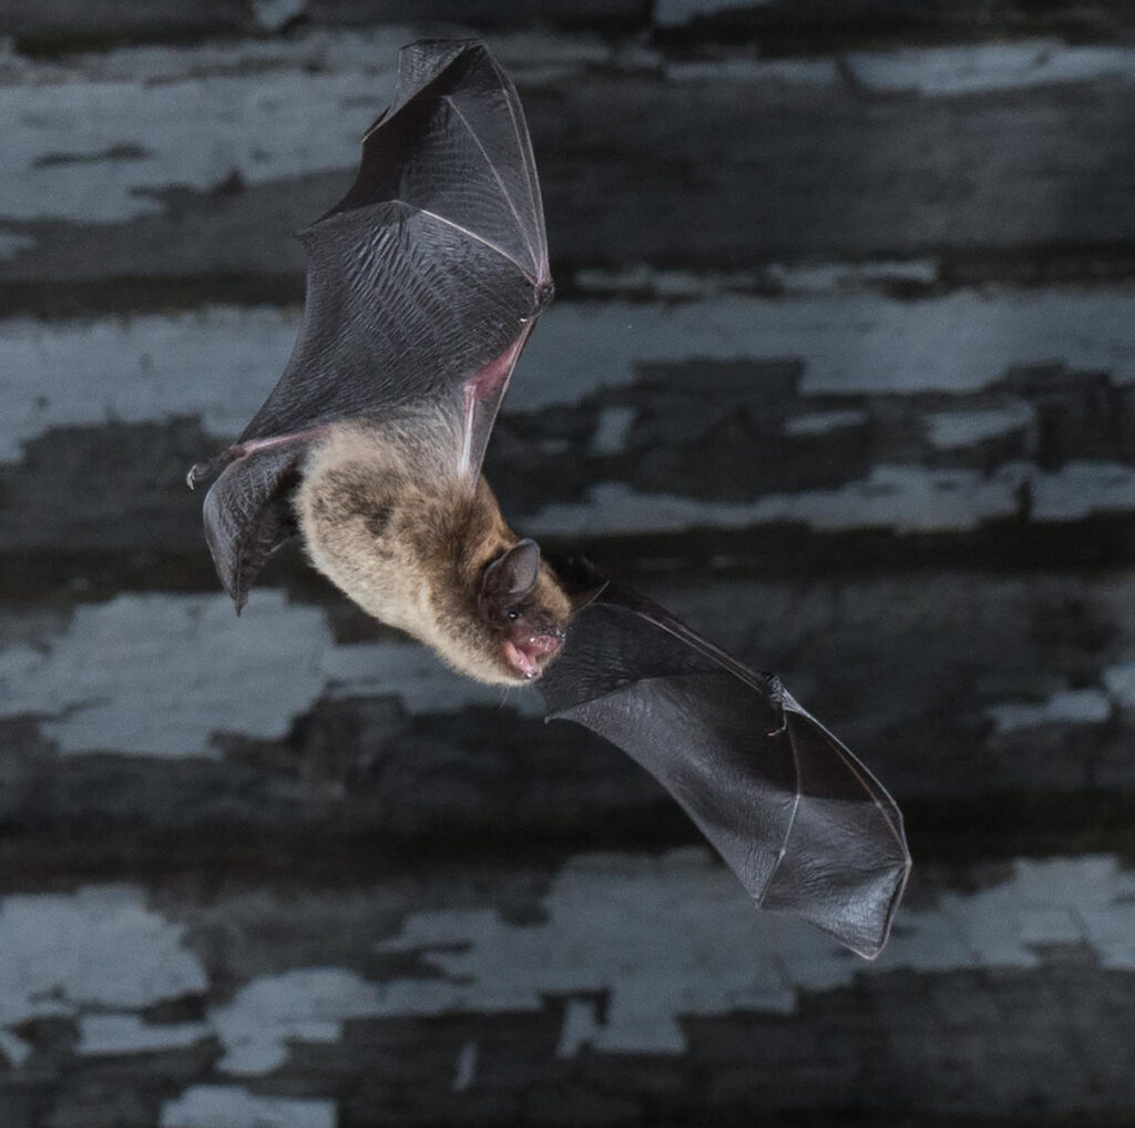
M 910 871 L 902 816 L 774 675 L 605 584 L 538 685 L 549 717 L 586 725 L 655 776 L 760 908 L 878 954 Z

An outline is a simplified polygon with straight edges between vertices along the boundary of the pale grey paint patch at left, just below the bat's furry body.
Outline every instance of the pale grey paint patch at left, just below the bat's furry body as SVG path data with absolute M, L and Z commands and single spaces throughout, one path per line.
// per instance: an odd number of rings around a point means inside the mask
M 224 595 L 81 604 L 60 636 L 0 650 L 0 716 L 39 716 L 67 754 L 218 757 L 216 733 L 278 740 L 323 694 L 389 694 L 410 712 L 538 710 L 533 694 L 468 682 L 413 642 L 337 646 L 321 610 L 271 590 L 239 618 Z

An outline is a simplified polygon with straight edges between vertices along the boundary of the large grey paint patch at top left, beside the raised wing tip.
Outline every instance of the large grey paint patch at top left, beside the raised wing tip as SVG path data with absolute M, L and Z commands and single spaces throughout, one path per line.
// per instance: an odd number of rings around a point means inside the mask
M 205 192 L 234 175 L 262 184 L 351 168 L 359 137 L 394 92 L 394 58 L 377 59 L 384 68 L 370 72 L 0 85 L 0 118 L 10 124 L 0 212 L 123 223 L 162 212 L 161 192 L 171 184 Z M 121 148 L 145 156 L 42 160 Z

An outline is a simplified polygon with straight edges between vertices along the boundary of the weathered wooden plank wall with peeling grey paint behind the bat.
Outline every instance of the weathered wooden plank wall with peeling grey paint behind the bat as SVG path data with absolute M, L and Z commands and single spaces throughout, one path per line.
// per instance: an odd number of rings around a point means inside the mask
M 287 356 L 287 233 L 397 47 L 478 28 L 560 293 L 489 475 L 892 787 L 873 966 L 297 552 L 239 620 L 218 591 L 184 474 Z M 9 0 L 0 35 L 0 1123 L 1129 1122 L 1125 0 Z

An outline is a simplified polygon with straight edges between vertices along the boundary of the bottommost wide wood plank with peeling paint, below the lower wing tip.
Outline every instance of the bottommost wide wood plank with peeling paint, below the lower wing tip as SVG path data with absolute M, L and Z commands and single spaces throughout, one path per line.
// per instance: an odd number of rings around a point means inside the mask
M 1113 857 L 926 874 L 873 966 L 730 880 L 687 851 L 8 895 L 7 1123 L 1054 1123 L 1135 1100 Z

